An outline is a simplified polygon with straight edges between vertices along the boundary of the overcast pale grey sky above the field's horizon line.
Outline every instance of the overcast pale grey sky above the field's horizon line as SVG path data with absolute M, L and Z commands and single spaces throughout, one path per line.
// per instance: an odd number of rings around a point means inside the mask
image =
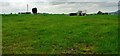
M 29 12 L 36 7 L 39 13 L 74 13 L 87 10 L 87 13 L 114 12 L 119 0 L 0 0 L 0 14 Z

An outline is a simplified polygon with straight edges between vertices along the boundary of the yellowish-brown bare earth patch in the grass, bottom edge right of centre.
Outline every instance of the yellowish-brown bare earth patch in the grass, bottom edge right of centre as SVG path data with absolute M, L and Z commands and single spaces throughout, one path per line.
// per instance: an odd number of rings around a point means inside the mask
M 93 48 L 92 44 L 75 43 L 73 47 L 63 50 L 62 54 L 93 54 Z

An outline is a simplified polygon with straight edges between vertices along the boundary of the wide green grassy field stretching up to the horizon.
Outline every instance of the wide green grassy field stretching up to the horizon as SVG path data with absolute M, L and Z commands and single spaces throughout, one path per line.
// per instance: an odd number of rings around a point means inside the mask
M 117 15 L 3 15 L 3 54 L 116 54 Z

